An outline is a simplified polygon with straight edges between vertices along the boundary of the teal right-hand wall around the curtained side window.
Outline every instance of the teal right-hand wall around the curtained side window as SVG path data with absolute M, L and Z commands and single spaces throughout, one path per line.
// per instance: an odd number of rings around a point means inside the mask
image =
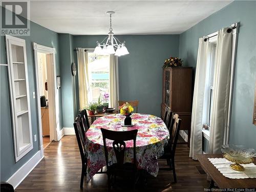
M 200 37 L 239 22 L 234 77 L 230 143 L 256 149 L 256 126 L 252 124 L 256 80 L 256 2 L 234 1 L 180 35 L 179 56 L 185 66 L 196 67 Z

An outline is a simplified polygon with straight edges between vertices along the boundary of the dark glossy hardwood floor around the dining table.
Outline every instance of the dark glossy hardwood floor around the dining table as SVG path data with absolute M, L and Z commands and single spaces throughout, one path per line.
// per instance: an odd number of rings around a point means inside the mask
M 177 183 L 173 181 L 172 171 L 159 170 L 157 178 L 148 176 L 145 188 L 136 191 L 204 191 L 209 183 L 200 169 L 198 161 L 188 158 L 187 144 L 178 144 L 176 149 Z M 165 160 L 159 161 L 166 166 Z M 167 166 L 166 166 L 167 167 Z M 200 174 L 201 172 L 201 174 Z M 45 149 L 45 158 L 34 168 L 15 191 L 107 191 L 107 177 L 97 174 L 83 189 L 79 188 L 81 159 L 75 135 L 64 136 L 59 142 L 52 142 Z M 129 184 L 121 183 L 111 191 L 133 191 Z

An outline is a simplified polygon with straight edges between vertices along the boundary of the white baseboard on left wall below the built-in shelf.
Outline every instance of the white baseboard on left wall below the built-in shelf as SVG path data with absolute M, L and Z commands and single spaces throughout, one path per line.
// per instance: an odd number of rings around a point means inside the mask
M 42 157 L 44 158 L 44 157 Z M 8 180 L 14 189 L 29 175 L 35 166 L 41 161 L 41 152 L 38 151 L 22 167 L 20 167 Z

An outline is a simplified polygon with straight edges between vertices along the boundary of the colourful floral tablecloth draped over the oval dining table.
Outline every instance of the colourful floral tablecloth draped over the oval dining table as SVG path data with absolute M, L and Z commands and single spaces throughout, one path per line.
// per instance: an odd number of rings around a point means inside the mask
M 133 126 L 123 126 L 125 116 L 120 114 L 106 115 L 98 118 L 86 133 L 86 150 L 88 152 L 87 182 L 106 165 L 104 146 L 100 129 L 112 131 L 138 130 L 136 139 L 136 164 L 153 176 L 158 174 L 157 158 L 163 155 L 163 148 L 168 142 L 169 131 L 159 117 L 135 113 L 132 116 Z M 109 165 L 116 163 L 112 142 L 106 140 L 110 148 Z M 133 162 L 133 141 L 126 141 L 124 162 Z

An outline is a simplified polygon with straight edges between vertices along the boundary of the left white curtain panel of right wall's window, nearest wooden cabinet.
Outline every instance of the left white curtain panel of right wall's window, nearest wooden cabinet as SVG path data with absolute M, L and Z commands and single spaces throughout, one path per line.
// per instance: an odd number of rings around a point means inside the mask
M 208 41 L 204 41 L 204 38 L 200 38 L 197 55 L 197 68 L 193 97 L 189 152 L 189 157 L 192 157 L 195 160 L 197 160 L 197 154 L 202 154 L 202 121 L 207 67 L 207 51 Z

